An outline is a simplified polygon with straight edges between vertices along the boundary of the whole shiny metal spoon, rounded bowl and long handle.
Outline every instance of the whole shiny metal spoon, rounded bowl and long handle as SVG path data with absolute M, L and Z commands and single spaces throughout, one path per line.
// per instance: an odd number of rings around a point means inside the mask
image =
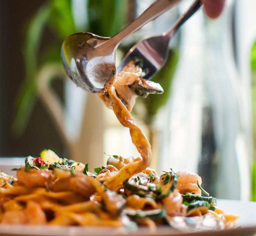
M 115 78 L 118 45 L 179 1 L 157 0 L 113 37 L 100 37 L 87 32 L 67 37 L 61 47 L 66 73 L 78 87 L 92 93 L 105 93 Z

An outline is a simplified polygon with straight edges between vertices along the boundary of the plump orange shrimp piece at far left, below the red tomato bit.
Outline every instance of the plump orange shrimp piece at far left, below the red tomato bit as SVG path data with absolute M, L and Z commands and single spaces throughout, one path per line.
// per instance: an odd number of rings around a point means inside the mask
M 17 178 L 17 182 L 26 187 L 49 187 L 54 180 L 53 171 L 48 169 L 25 171 L 25 168 L 22 168 L 17 171 Z

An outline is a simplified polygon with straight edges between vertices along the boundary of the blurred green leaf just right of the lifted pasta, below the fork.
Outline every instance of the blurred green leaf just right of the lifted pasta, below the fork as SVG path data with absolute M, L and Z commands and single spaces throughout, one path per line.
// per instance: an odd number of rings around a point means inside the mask
M 152 81 L 159 83 L 163 89 L 162 94 L 149 94 L 147 98 L 140 98 L 146 106 L 145 123 L 151 124 L 158 109 L 168 100 L 171 93 L 171 83 L 176 70 L 179 53 L 177 49 L 170 49 L 166 64 L 153 78 Z

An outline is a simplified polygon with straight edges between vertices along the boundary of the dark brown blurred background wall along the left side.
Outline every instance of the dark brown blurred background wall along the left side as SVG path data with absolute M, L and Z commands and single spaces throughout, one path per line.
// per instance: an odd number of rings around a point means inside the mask
M 12 132 L 14 102 L 21 81 L 24 80 L 22 44 L 28 20 L 44 0 L 0 0 L 0 156 L 38 155 L 42 149 L 53 149 L 62 154 L 63 144 L 51 119 L 39 100 L 33 109 L 25 133 Z M 45 32 L 45 42 L 51 40 Z M 60 45 L 61 47 L 61 45 Z M 43 48 L 43 45 L 42 45 Z M 54 84 L 62 92 L 62 84 Z

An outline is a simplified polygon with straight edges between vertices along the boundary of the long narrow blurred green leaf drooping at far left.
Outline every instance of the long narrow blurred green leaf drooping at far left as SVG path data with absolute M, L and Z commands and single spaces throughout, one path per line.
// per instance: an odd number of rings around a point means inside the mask
M 25 79 L 17 94 L 14 109 L 15 117 L 13 131 L 21 134 L 27 125 L 36 100 L 35 75 L 38 68 L 38 52 L 43 34 L 43 28 L 51 13 L 52 5 L 43 4 L 28 25 L 23 56 L 25 64 Z

